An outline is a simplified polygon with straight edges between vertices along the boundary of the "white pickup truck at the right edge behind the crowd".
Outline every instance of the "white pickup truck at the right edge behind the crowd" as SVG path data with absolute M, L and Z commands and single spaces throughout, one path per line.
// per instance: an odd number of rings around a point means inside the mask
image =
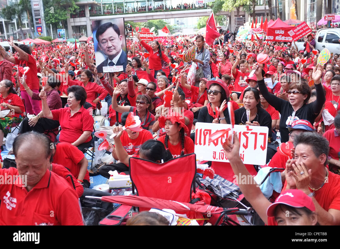
M 315 37 L 315 49 L 319 51 L 327 48 L 330 53 L 340 54 L 340 29 L 320 29 Z M 295 42 L 298 51 L 303 50 L 303 41 Z

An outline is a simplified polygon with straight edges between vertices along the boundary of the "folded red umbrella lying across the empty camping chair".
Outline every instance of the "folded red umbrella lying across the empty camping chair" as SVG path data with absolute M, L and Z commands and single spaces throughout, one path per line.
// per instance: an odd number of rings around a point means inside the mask
M 198 213 L 211 213 L 218 214 L 225 211 L 224 208 L 214 207 L 204 204 L 203 201 L 190 204 L 187 202 L 178 202 L 171 200 L 163 200 L 152 197 L 128 195 L 128 196 L 85 196 L 85 198 L 101 199 L 102 201 L 120 203 L 124 205 L 130 205 L 140 208 L 158 208 L 158 209 L 172 209 L 176 212 L 198 212 Z M 238 211 L 238 210 L 235 210 Z

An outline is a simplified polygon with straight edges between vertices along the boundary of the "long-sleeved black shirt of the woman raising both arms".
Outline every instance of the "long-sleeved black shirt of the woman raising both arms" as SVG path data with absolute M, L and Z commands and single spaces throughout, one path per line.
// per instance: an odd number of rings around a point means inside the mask
M 274 94 L 268 92 L 268 89 L 265 85 L 265 81 L 262 79 L 257 82 L 258 88 L 262 93 L 262 96 L 267 100 L 267 102 L 274 107 L 277 111 L 280 112 L 280 134 L 281 134 L 281 142 L 285 143 L 289 140 L 289 130 L 287 127 L 287 121 L 290 119 L 299 120 L 304 119 L 308 120 L 311 124 L 314 123 L 315 118 L 319 115 L 323 104 L 326 101 L 325 92 L 321 84 L 316 84 L 315 89 L 317 92 L 316 101 L 310 104 L 303 104 L 303 106 L 295 111 L 293 115 L 294 109 L 289 101 L 280 99 L 276 97 Z M 288 120 L 289 119 L 289 120 Z

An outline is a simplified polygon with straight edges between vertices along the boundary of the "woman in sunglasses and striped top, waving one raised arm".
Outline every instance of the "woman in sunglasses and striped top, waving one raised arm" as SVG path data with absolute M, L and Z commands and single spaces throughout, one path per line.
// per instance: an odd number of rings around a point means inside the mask
M 122 91 L 122 86 L 119 84 L 113 91 L 113 99 L 117 98 L 118 94 Z M 112 108 L 115 111 L 123 113 L 125 111 L 134 112 L 139 116 L 141 127 L 146 130 L 151 130 L 152 125 L 155 123 L 155 116 L 150 111 L 153 109 L 152 101 L 149 95 L 142 94 L 136 98 L 136 107 L 134 106 L 120 106 L 116 101 L 112 101 Z

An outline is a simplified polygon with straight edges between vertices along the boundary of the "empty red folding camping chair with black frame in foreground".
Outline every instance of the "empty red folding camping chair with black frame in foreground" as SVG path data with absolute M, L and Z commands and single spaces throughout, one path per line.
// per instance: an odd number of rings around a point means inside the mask
M 132 195 L 161 198 L 165 200 L 192 202 L 195 192 L 196 155 L 194 153 L 173 158 L 158 164 L 149 160 L 131 157 L 129 160 Z M 135 189 L 137 193 L 135 193 Z M 139 211 L 149 209 L 140 208 Z M 121 225 L 136 209 L 119 205 L 99 225 Z

